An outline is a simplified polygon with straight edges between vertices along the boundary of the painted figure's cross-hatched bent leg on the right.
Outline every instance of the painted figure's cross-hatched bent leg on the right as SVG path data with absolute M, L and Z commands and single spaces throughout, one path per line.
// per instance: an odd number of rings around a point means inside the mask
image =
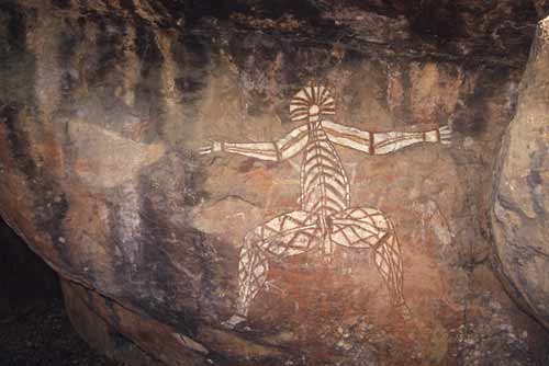
M 391 304 L 407 310 L 403 295 L 402 253 L 393 224 L 376 208 L 349 208 L 333 216 L 332 240 L 348 248 L 370 248 Z

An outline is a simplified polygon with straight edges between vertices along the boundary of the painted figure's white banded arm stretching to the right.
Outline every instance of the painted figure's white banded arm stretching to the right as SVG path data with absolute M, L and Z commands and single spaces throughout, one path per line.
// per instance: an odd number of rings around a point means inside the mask
M 421 133 L 371 133 L 324 121 L 323 128 L 330 141 L 369 155 L 390 153 L 421 142 L 445 145 L 451 142 L 451 129 L 449 126 Z

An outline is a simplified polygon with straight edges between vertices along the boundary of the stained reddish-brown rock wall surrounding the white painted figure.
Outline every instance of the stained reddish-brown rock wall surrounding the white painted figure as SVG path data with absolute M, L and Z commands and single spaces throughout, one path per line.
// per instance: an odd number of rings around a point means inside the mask
M 535 365 L 547 335 L 488 259 L 537 16 L 529 1 L 4 1 L 0 213 L 109 354 L 123 339 L 168 365 Z M 352 203 L 395 224 L 412 319 L 368 251 L 343 251 L 273 262 L 231 330 L 243 238 L 296 209 L 300 160 L 198 151 L 281 137 L 312 79 L 343 125 L 453 127 L 451 146 L 338 150 Z

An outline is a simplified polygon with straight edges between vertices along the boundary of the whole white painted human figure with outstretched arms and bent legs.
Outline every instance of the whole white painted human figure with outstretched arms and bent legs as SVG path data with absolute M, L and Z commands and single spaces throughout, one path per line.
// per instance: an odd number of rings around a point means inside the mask
M 326 119 L 335 114 L 327 88 L 310 85 L 290 104 L 293 122 L 305 122 L 278 141 L 219 142 L 201 153 L 231 152 L 261 160 L 283 161 L 301 151 L 300 209 L 281 214 L 244 238 L 238 263 L 236 314 L 227 324 L 246 319 L 253 299 L 267 281 L 269 261 L 320 251 L 329 261 L 337 247 L 369 249 L 396 309 L 407 309 L 403 297 L 401 248 L 393 222 L 379 209 L 350 204 L 350 185 L 334 147 L 368 155 L 385 155 L 419 142 L 450 141 L 449 127 L 422 133 L 371 133 Z

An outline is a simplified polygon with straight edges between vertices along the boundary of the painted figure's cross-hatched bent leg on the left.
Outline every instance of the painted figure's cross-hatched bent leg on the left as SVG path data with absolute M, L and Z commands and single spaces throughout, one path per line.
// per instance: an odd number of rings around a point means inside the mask
M 269 258 L 283 259 L 318 247 L 320 229 L 305 211 L 277 216 L 257 227 L 244 239 L 238 263 L 237 313 L 226 324 L 246 319 L 251 300 L 265 286 Z

